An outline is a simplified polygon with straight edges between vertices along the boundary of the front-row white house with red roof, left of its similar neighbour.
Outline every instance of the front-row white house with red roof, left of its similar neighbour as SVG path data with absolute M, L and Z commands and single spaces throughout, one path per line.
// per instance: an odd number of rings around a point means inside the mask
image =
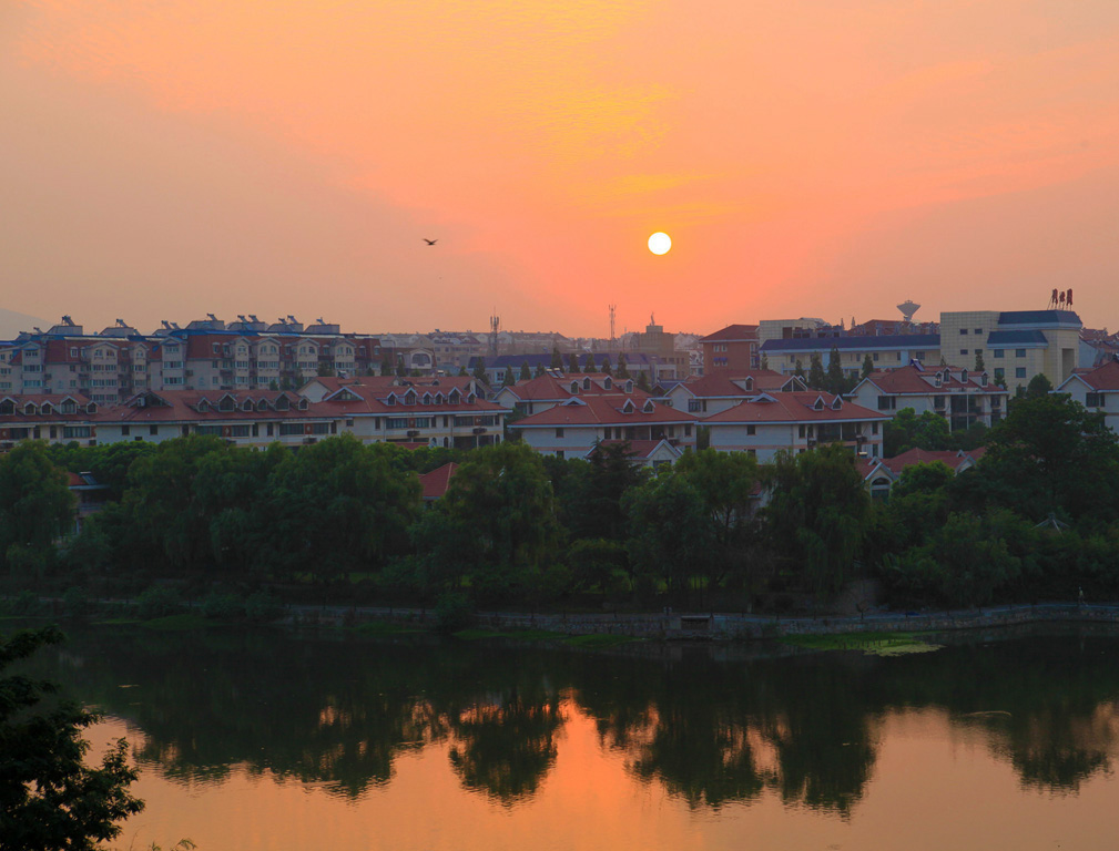
M 695 447 L 698 418 L 650 398 L 572 396 L 532 414 L 509 428 L 537 452 L 557 457 L 584 457 L 600 441 L 667 441 L 680 450 Z

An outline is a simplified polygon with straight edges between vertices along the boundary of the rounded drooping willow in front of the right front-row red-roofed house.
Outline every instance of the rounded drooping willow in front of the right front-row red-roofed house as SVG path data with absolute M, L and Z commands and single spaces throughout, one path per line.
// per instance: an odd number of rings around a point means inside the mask
M 799 455 L 781 452 L 768 477 L 772 495 L 764 516 L 774 549 L 803 571 L 817 597 L 839 590 L 871 521 L 854 453 L 839 444 Z

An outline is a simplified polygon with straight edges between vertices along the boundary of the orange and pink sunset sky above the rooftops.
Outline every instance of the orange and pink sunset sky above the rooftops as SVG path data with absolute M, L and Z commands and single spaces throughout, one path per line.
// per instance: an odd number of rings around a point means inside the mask
M 1115 0 L 7 0 L 0 116 L 0 308 L 87 329 L 1119 329 Z

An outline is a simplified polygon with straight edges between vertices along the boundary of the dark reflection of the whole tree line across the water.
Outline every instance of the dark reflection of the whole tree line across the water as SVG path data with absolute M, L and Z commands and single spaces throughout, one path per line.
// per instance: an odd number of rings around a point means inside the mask
M 577 712 L 633 778 L 693 809 L 773 794 L 847 817 L 885 719 L 908 709 L 981 731 L 1027 787 L 1074 793 L 1109 772 L 1117 649 L 1115 637 L 1050 636 L 904 659 L 715 661 L 104 627 L 41 664 L 142 728 L 141 763 L 184 783 L 238 769 L 356 800 L 391 783 L 402 755 L 439 743 L 463 788 L 511 806 L 539 793 Z

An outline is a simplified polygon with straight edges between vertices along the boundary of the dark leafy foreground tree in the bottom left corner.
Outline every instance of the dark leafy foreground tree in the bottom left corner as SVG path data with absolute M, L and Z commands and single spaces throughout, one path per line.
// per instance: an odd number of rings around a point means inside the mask
M 57 627 L 0 639 L 0 842 L 6 849 L 93 851 L 143 809 L 129 786 L 138 772 L 117 739 L 100 767 L 86 764 L 82 732 L 100 720 L 69 700 L 45 706 L 49 682 L 8 673 L 16 662 L 63 641 Z

